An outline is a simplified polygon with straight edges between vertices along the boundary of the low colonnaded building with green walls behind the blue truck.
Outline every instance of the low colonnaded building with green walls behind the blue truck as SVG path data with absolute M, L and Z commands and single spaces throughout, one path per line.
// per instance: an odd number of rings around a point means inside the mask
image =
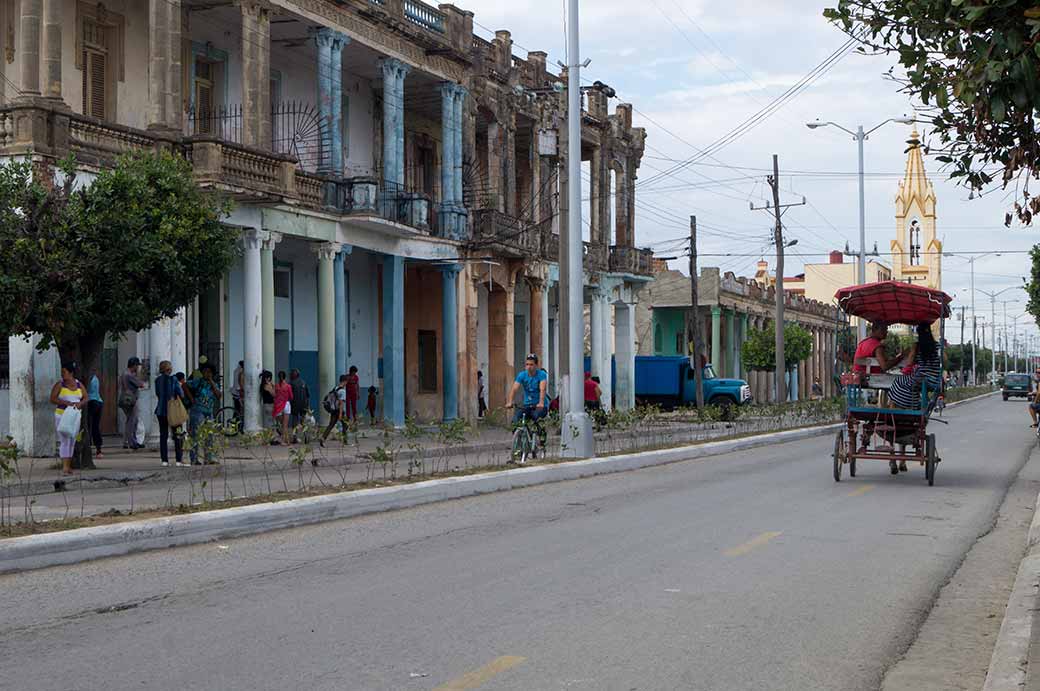
M 789 395 L 807 399 L 813 380 L 818 379 L 826 395 L 837 392 L 834 385 L 834 336 L 836 311 L 833 306 L 802 296 L 786 293 L 784 316 L 812 335 L 812 351 L 789 375 Z M 772 286 L 734 276 L 718 268 L 701 270 L 697 292 L 697 318 L 709 362 L 719 377 L 748 381 L 756 402 L 775 399 L 773 374 L 749 370 L 740 361 L 740 344 L 752 329 L 764 329 L 776 309 Z M 688 355 L 690 277 L 658 267 L 653 281 L 640 293 L 636 306 L 636 340 L 640 355 Z

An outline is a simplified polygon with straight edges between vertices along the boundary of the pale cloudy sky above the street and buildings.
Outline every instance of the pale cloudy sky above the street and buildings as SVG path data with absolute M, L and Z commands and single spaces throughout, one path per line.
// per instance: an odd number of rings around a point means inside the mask
M 461 0 L 474 12 L 474 32 L 490 39 L 509 29 L 514 53 L 545 50 L 549 63 L 564 61 L 566 0 Z M 785 275 L 803 262 L 826 261 L 826 253 L 858 248 L 857 149 L 851 135 L 833 127 L 810 130 L 805 123 L 832 121 L 851 130 L 870 129 L 888 118 L 914 116 L 914 103 L 885 73 L 893 56 L 850 52 L 812 85 L 745 135 L 684 171 L 648 182 L 694 156 L 735 124 L 761 109 L 837 50 L 847 36 L 823 17 L 834 0 L 584 0 L 580 6 L 581 58 L 591 65 L 582 80 L 613 86 L 619 100 L 633 105 L 633 124 L 647 129 L 647 148 L 636 183 L 635 242 L 660 256 L 675 256 L 688 236 L 688 216 L 698 219 L 700 263 L 752 276 L 759 255 L 774 265 L 771 216 L 751 211 L 769 195 L 765 175 L 772 156 L 780 161 L 781 203 L 799 202 L 784 216 L 785 236 L 798 239 L 786 258 Z M 614 104 L 612 103 L 612 109 Z M 928 142 L 927 124 L 919 125 Z M 894 197 L 906 165 L 910 126 L 889 123 L 865 143 L 866 247 L 889 251 L 895 234 Z M 998 252 L 974 261 L 976 310 L 988 324 L 990 298 L 983 291 L 1011 288 L 997 297 L 997 328 L 1004 325 L 1002 301 L 1012 317 L 1024 312 L 1025 293 L 1013 286 L 1028 276 L 1023 251 L 1040 241 L 1040 228 L 1004 227 L 1009 195 L 999 189 L 968 199 L 947 180 L 941 165 L 926 158 L 937 198 L 937 230 L 943 249 Z M 789 172 L 789 173 L 787 173 Z M 644 184 L 644 187 L 640 187 Z M 588 189 L 583 191 L 588 197 Z M 1010 254 L 1012 252 L 1019 254 Z M 711 257 L 711 254 L 750 256 Z M 811 255 L 811 256 L 800 256 Z M 882 261 L 888 258 L 882 255 Z M 685 259 L 672 262 L 685 272 Z M 943 259 L 943 289 L 955 305 L 971 293 L 966 256 Z M 970 318 L 970 316 L 968 317 Z M 1028 317 L 1018 319 L 1019 331 Z M 954 323 L 952 340 L 958 340 Z M 970 337 L 970 336 L 969 336 Z M 990 336 L 987 329 L 987 342 Z

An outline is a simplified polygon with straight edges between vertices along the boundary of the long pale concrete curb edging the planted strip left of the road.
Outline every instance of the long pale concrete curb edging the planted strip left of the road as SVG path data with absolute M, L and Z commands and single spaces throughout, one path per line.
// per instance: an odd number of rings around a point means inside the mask
M 989 395 L 989 394 L 985 394 Z M 974 396 L 967 403 L 984 396 Z M 149 549 L 185 546 L 212 540 L 295 528 L 327 520 L 407 509 L 422 504 L 530 487 L 598 475 L 718 456 L 774 443 L 798 441 L 837 430 L 834 423 L 800 430 L 709 441 L 675 449 L 607 456 L 552 465 L 498 470 L 409 485 L 363 489 L 285 502 L 255 504 L 184 516 L 151 518 L 111 526 L 80 528 L 0 540 L 0 573 L 73 564 Z

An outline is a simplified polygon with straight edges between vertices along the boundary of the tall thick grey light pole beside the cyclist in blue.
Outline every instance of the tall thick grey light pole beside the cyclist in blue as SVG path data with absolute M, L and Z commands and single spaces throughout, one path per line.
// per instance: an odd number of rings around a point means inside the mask
M 582 390 L 584 358 L 582 341 L 584 316 L 582 292 L 584 275 L 581 270 L 581 56 L 578 42 L 578 0 L 567 2 L 567 368 L 563 384 L 567 391 L 567 409 L 561 429 L 561 455 L 567 458 L 589 458 L 593 455 L 592 425 L 584 412 Z M 696 305 L 694 309 L 696 309 Z

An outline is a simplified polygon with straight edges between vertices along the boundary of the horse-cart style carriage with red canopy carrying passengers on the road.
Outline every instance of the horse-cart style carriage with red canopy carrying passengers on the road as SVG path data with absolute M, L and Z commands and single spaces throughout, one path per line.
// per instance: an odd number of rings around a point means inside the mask
M 928 423 L 942 395 L 941 375 L 924 377 L 915 384 L 913 407 L 895 407 L 888 400 L 888 390 L 899 375 L 872 374 L 869 363 L 854 360 L 856 341 L 849 317 L 890 326 L 929 325 L 937 336 L 942 362 L 944 323 L 951 314 L 952 299 L 942 290 L 898 281 L 841 288 L 834 298 L 844 327 L 839 328 L 835 372 L 840 373 L 846 395 L 846 421 L 834 438 L 834 481 L 841 481 L 847 467 L 849 476 L 855 478 L 857 461 L 878 460 L 916 462 L 924 466 L 928 484 L 935 484 L 935 470 L 941 459 L 935 434 L 928 432 Z M 860 370 L 864 365 L 865 372 Z

